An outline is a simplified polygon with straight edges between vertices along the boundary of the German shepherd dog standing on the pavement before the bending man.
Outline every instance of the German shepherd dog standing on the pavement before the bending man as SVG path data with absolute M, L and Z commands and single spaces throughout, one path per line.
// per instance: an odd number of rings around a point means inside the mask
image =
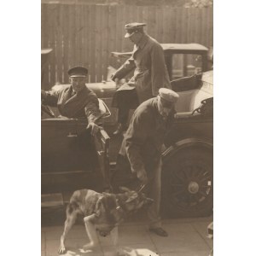
M 84 224 L 90 242 L 84 245 L 84 250 L 92 249 L 99 243 L 96 230 L 101 236 L 112 236 L 113 246 L 118 245 L 118 225 L 131 213 L 153 202 L 147 198 L 141 188 L 139 191 L 121 187 L 123 193 L 109 194 L 97 193 L 90 189 L 80 189 L 73 193 L 67 205 L 67 219 L 64 225 L 64 232 L 61 236 L 59 253 L 65 253 L 65 239 L 68 231 L 79 214 L 84 216 Z M 119 252 L 117 252 L 119 253 Z

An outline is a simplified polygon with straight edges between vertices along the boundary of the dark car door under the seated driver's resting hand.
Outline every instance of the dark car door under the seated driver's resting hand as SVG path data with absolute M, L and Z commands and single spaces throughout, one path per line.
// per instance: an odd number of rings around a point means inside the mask
M 108 134 L 91 137 L 86 127 L 86 119 L 42 120 L 43 193 L 100 189 L 108 179 Z

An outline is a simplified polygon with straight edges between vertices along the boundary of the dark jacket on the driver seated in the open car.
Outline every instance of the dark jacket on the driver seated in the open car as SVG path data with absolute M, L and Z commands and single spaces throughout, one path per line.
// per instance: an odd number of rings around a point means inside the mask
M 61 115 L 68 118 L 87 117 L 88 122 L 96 122 L 101 115 L 96 94 L 86 86 L 77 94 L 71 85 L 61 90 L 46 92 L 43 103 L 58 107 Z

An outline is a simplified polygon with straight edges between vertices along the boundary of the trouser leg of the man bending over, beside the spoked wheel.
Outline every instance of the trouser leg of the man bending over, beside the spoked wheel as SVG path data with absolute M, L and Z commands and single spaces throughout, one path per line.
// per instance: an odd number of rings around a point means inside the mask
M 150 228 L 159 228 L 161 227 L 160 220 L 160 193 L 161 193 L 161 159 L 158 161 L 154 176 L 150 182 L 150 188 L 148 191 L 148 197 L 153 199 L 154 202 L 150 207 L 148 207 L 148 219 Z

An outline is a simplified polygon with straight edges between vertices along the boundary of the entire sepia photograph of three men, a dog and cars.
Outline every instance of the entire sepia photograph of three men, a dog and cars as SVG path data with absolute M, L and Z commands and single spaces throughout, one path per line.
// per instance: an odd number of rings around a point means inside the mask
M 41 255 L 213 255 L 213 0 L 41 0 Z

